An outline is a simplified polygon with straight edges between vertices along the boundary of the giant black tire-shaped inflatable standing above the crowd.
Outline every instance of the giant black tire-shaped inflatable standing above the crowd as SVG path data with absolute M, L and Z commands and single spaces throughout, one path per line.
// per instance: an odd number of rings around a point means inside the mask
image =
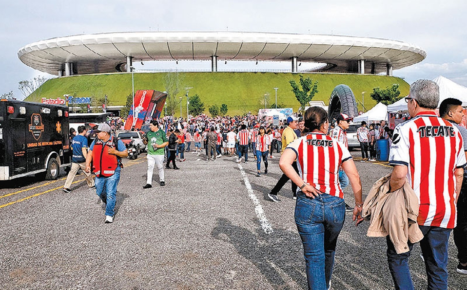
M 338 85 L 331 93 L 328 107 L 329 122 L 337 119 L 340 113 L 347 114 L 351 118 L 358 115 L 355 96 L 347 85 Z

